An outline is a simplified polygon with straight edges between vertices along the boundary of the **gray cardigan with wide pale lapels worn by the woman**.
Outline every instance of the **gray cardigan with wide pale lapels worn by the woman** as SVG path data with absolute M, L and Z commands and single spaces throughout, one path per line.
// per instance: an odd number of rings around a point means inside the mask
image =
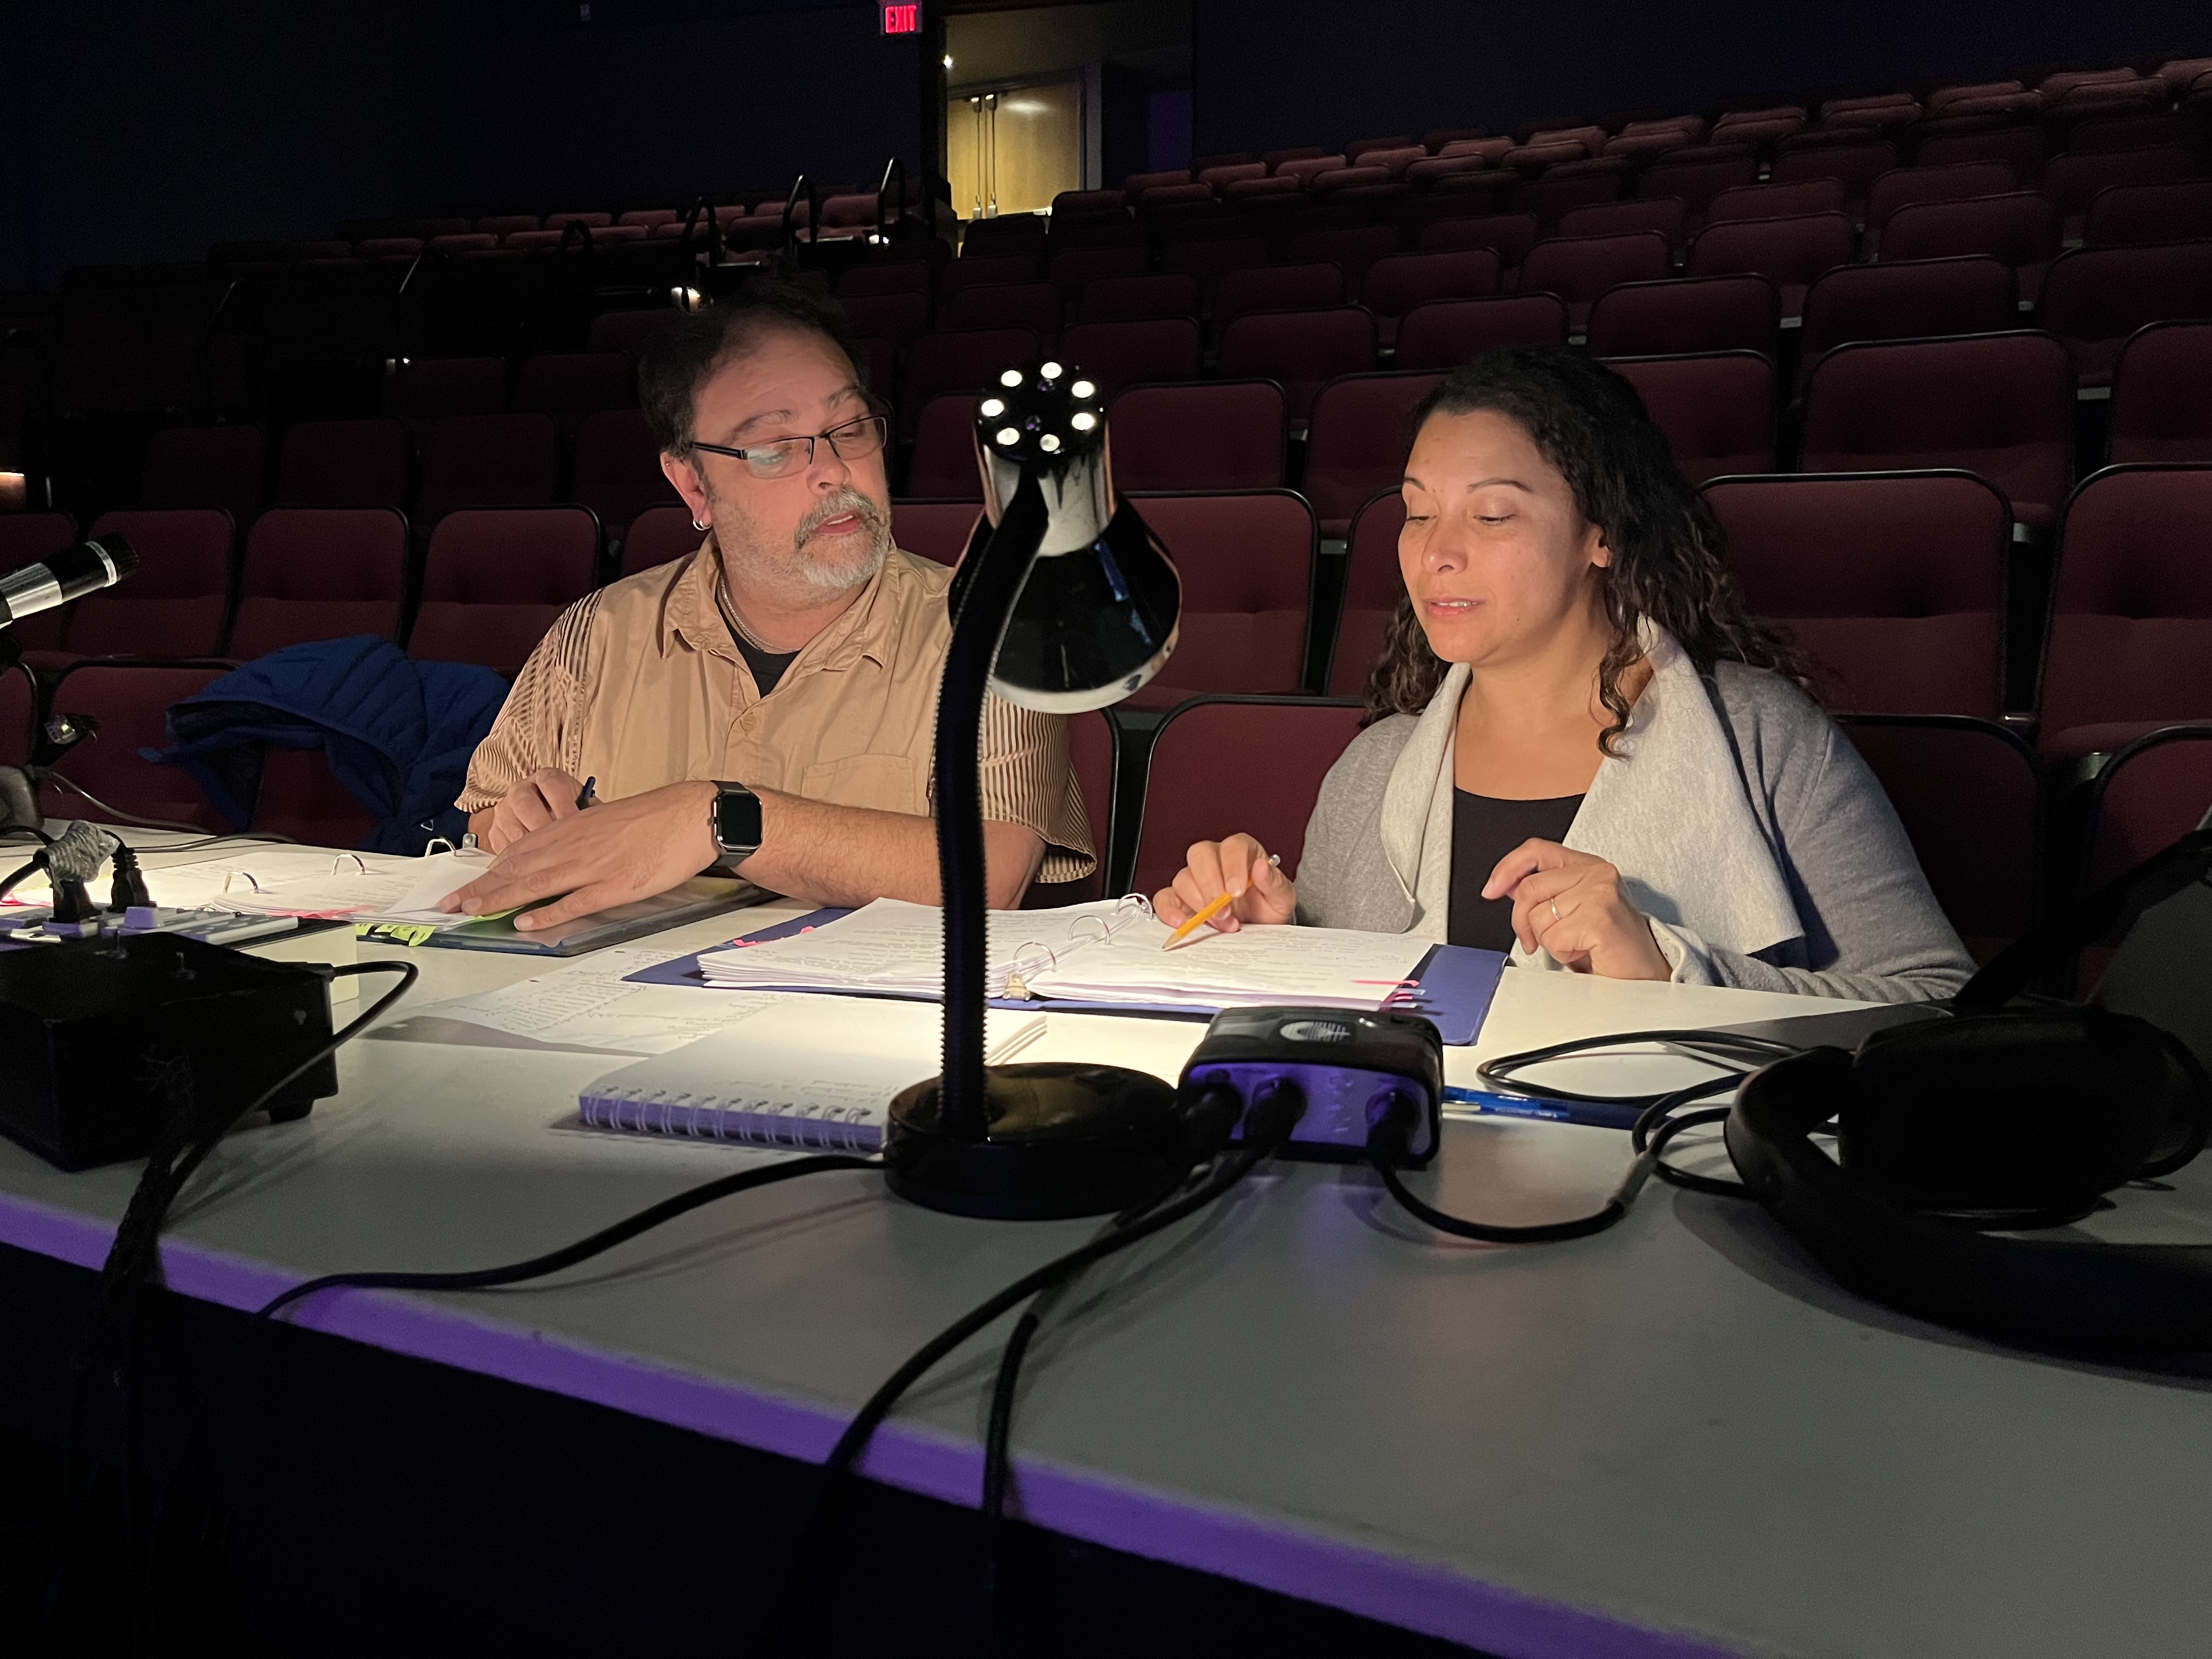
M 1652 679 L 1566 845 L 1621 872 L 1672 978 L 1867 1002 L 1958 991 L 1973 962 L 1834 721 L 1778 675 L 1719 664 L 1708 690 L 1668 635 L 1648 646 Z M 1420 717 L 1369 726 L 1329 770 L 1305 827 L 1301 922 L 1444 938 L 1467 677 L 1453 666 Z M 1559 967 L 1520 947 L 1513 960 Z

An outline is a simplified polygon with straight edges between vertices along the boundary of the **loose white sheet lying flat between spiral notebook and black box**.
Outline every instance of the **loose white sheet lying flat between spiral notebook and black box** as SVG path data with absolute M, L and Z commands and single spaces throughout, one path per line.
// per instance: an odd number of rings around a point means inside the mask
M 672 984 L 624 984 L 624 975 L 666 960 L 668 951 L 653 947 L 595 951 L 498 991 L 431 1002 L 374 1035 L 467 1042 L 465 1031 L 453 1029 L 458 1024 L 551 1048 L 664 1055 L 787 1000 L 772 993 L 703 998 Z

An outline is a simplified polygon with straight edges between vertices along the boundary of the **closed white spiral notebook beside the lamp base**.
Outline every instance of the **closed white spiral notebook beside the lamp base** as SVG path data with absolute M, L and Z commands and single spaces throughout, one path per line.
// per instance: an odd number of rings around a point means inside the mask
M 1002 1064 L 1044 1035 L 1042 1013 L 991 1011 L 984 1060 Z M 588 1084 L 584 1128 L 781 1152 L 874 1152 L 891 1097 L 938 1075 L 933 1002 L 776 998 L 710 1037 Z

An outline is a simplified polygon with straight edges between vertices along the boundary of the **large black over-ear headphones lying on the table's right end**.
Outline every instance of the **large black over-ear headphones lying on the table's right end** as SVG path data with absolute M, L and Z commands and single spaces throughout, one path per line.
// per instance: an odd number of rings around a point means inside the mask
M 2212 1245 L 1989 1237 L 2075 1221 L 2203 1150 L 2212 1082 L 2179 1037 L 2112 1009 L 2006 1004 L 2208 878 L 2199 830 L 2000 953 L 1955 1018 L 1747 1077 L 1725 1139 L 1750 1194 L 1838 1281 L 1918 1318 L 2057 1347 L 2212 1349 Z M 1812 1139 L 1829 1124 L 1836 1157 Z

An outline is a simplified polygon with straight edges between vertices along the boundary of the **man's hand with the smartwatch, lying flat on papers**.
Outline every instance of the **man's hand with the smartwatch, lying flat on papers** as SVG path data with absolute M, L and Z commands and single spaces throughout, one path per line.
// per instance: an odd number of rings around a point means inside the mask
M 560 776 L 533 772 L 531 783 Z M 447 894 L 440 909 L 480 916 L 566 894 L 515 918 L 522 931 L 557 927 L 608 905 L 666 894 L 719 856 L 708 827 L 712 783 L 670 783 L 626 801 L 602 801 L 586 812 L 575 810 L 575 779 L 568 779 L 568 810 L 557 823 L 546 821 L 511 843 L 487 874 Z

